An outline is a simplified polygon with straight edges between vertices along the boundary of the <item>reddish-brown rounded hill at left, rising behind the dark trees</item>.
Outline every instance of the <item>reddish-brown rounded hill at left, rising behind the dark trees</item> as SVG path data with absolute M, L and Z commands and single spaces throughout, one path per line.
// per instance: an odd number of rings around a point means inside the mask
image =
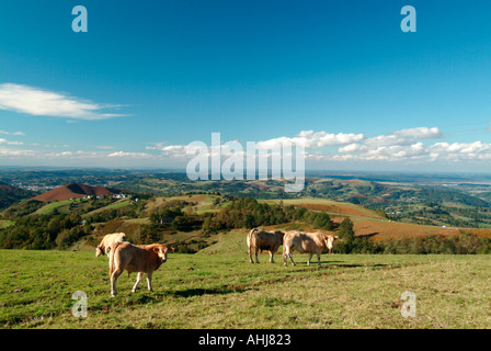
M 92 186 L 80 183 L 70 183 L 68 185 L 58 186 L 49 190 L 41 195 L 35 196 L 33 200 L 49 202 L 49 201 L 64 201 L 69 199 L 82 199 L 90 196 L 105 196 L 116 194 L 117 191 L 107 189 L 104 186 Z

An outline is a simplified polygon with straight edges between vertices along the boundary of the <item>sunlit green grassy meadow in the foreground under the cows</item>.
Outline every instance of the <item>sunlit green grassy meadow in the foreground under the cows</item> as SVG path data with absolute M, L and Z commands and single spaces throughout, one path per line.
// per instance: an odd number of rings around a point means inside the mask
M 322 267 L 285 268 L 281 254 L 249 263 L 244 235 L 224 234 L 198 253 L 170 253 L 153 292 L 136 274 L 110 296 L 107 258 L 87 251 L 0 250 L 1 328 L 488 328 L 488 256 L 324 254 Z M 316 260 L 313 260 L 316 261 Z M 416 296 L 402 317 L 401 294 Z M 88 316 L 71 295 L 83 291 Z

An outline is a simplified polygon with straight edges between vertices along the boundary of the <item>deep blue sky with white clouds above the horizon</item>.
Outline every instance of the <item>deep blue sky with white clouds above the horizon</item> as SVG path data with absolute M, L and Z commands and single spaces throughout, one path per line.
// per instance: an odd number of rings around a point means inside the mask
M 401 31 L 404 5 L 415 32 Z M 220 133 L 301 139 L 307 169 L 489 172 L 489 13 L 463 0 L 2 0 L 0 166 L 185 168 L 185 146 Z

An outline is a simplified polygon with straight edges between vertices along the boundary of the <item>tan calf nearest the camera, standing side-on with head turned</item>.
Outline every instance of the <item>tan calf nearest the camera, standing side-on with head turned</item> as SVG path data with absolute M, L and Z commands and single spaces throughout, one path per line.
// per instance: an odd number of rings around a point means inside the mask
M 111 247 L 110 258 L 111 296 L 116 296 L 116 281 L 124 270 L 128 274 L 138 272 L 132 288 L 133 293 L 144 278 L 144 273 L 147 273 L 148 290 L 152 291 L 151 274 L 167 261 L 168 252 L 173 251 L 173 248 L 168 248 L 164 244 L 136 246 L 129 242 L 115 242 Z

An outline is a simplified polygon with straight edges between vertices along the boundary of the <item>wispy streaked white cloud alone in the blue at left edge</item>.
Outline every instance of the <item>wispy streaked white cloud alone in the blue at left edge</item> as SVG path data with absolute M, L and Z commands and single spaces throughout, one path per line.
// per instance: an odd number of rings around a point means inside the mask
M 102 112 L 102 110 L 109 107 L 118 106 L 82 101 L 79 98 L 67 97 L 61 93 L 23 84 L 0 84 L 0 110 L 36 116 L 44 115 L 91 121 L 124 116 L 123 114 Z

